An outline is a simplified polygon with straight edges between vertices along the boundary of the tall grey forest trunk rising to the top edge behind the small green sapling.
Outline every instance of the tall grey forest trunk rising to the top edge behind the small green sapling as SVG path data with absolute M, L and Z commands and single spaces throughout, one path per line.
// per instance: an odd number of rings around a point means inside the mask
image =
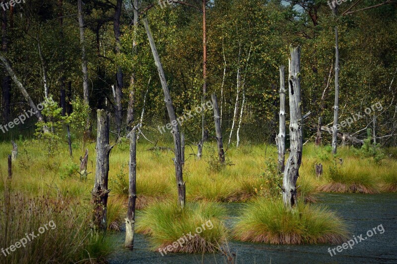
M 83 72 L 83 99 L 84 104 L 89 106 L 89 92 L 88 92 L 88 67 L 87 67 L 87 55 L 85 53 L 85 37 L 84 37 L 84 17 L 82 0 L 77 0 L 77 13 L 78 13 L 78 25 L 80 30 L 80 46 L 81 46 L 81 68 Z M 87 115 L 87 122 L 85 127 L 86 133 L 91 133 L 91 122 L 90 116 Z M 87 135 L 86 135 L 87 136 Z

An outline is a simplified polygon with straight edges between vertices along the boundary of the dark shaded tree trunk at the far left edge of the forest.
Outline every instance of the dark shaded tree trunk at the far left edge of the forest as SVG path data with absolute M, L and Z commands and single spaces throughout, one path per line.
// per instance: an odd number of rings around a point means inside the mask
M 5 0 L 2 0 L 4 3 Z M 8 51 L 8 39 L 7 39 L 7 12 L 5 9 L 1 10 L 1 51 L 6 53 Z M 7 71 L 4 70 L 4 76 L 1 82 L 2 88 L 2 107 L 3 107 L 3 121 L 4 123 L 8 123 L 9 116 L 11 114 L 11 96 L 10 96 L 10 84 L 11 78 L 7 74 Z

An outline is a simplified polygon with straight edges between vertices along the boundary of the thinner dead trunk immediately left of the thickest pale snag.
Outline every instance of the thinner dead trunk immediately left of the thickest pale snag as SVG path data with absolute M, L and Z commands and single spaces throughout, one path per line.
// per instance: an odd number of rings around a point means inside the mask
M 284 173 L 285 168 L 285 75 L 284 66 L 280 67 L 280 114 L 279 114 L 279 133 L 276 136 L 278 151 L 278 170 Z

